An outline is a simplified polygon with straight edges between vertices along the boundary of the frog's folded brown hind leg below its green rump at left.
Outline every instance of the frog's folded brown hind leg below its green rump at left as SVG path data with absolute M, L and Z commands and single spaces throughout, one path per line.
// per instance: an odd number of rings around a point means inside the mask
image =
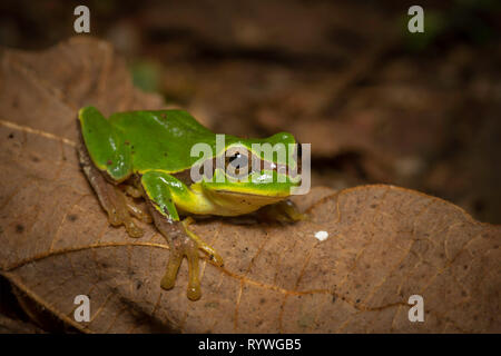
M 130 217 L 130 207 L 128 206 L 125 194 L 118 186 L 109 182 L 104 172 L 99 171 L 90 160 L 86 147 L 80 144 L 78 147 L 80 166 L 87 176 L 90 185 L 96 191 L 99 202 L 108 212 L 108 221 L 112 226 L 124 225 L 130 237 L 141 237 L 144 231 Z

